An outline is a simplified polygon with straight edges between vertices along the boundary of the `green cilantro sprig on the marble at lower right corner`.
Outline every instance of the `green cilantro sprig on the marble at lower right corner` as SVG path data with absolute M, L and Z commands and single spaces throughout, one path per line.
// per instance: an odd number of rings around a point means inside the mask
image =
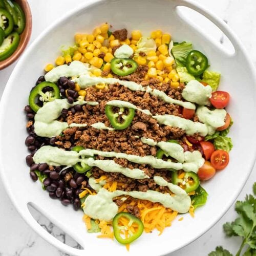
M 244 201 L 237 201 L 235 210 L 238 218 L 223 225 L 227 237 L 241 237 L 242 243 L 236 254 L 240 256 L 256 255 L 256 182 L 253 184 L 253 195 L 247 195 Z M 208 256 L 232 256 L 232 254 L 221 246 L 216 247 Z

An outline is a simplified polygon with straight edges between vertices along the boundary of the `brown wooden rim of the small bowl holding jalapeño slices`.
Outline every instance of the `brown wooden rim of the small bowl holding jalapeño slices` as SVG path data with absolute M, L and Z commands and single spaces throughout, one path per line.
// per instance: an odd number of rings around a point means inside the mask
M 26 16 L 26 26 L 28 26 L 28 30 L 27 30 L 27 33 L 24 34 L 25 39 L 23 41 L 23 44 L 20 45 L 20 47 L 17 50 L 15 50 L 15 52 L 10 57 L 8 57 L 5 60 L 0 61 L 0 70 L 3 70 L 5 68 L 7 68 L 8 66 L 10 66 L 15 60 L 17 60 L 20 57 L 20 55 L 23 54 L 26 47 L 28 46 L 28 43 L 29 43 L 29 40 L 30 40 L 30 37 L 31 37 L 32 24 L 33 24 L 32 23 L 31 9 L 30 9 L 30 6 L 29 6 L 29 3 L 28 3 L 27 0 L 20 0 L 20 2 L 24 3 L 25 8 L 27 10 L 26 12 L 24 11 L 24 13 L 25 13 L 25 16 Z M 19 42 L 19 44 L 20 44 L 20 42 Z

